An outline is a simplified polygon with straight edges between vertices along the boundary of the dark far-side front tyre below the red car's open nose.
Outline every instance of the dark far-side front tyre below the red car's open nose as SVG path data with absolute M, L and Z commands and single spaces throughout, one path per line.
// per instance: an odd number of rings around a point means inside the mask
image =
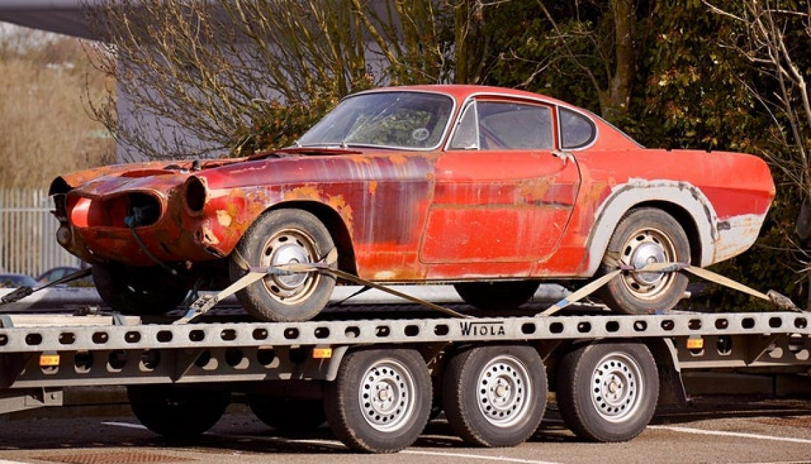
M 122 314 L 163 314 L 177 309 L 189 292 L 160 267 L 95 264 L 92 275 L 101 300 Z

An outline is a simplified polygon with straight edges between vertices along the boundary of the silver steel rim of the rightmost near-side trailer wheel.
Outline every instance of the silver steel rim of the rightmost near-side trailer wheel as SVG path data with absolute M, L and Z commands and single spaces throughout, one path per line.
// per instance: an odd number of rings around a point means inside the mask
M 595 411 L 611 422 L 633 415 L 642 398 L 642 371 L 622 353 L 611 353 L 594 368 L 591 401 Z

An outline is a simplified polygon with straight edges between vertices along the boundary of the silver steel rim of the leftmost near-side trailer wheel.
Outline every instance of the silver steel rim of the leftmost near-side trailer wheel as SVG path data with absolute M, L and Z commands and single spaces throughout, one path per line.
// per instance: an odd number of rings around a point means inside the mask
M 358 399 L 363 418 L 381 432 L 397 430 L 414 413 L 414 380 L 402 364 L 384 360 L 363 376 Z

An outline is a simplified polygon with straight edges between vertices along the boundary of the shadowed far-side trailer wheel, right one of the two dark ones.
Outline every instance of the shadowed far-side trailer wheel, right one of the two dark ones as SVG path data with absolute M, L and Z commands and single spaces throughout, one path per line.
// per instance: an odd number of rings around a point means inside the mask
M 263 394 L 248 397 L 248 407 L 264 424 L 285 433 L 310 432 L 327 421 L 324 402 Z

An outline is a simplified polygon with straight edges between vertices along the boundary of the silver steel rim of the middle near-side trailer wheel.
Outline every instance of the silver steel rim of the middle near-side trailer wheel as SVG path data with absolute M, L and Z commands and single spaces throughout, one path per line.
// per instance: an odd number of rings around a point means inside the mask
M 478 376 L 478 407 L 491 424 L 509 427 L 526 416 L 532 401 L 530 376 L 512 356 L 491 360 Z

